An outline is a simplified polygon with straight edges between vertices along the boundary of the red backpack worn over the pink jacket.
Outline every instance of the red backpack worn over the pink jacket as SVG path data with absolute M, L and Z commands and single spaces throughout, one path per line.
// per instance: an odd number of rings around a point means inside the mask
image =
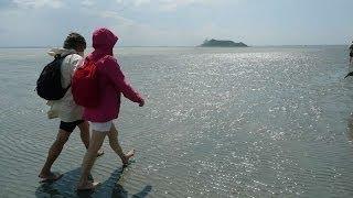
M 72 79 L 72 94 L 78 106 L 94 108 L 99 105 L 97 67 L 93 61 L 86 58 L 84 64 L 76 68 Z

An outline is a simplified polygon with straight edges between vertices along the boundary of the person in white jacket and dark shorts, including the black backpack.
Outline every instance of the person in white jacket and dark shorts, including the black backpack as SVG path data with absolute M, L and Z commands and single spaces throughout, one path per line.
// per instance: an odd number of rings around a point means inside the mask
M 45 164 L 39 174 L 41 182 L 53 182 L 62 177 L 62 174 L 52 173 L 51 167 L 76 127 L 79 128 L 85 147 L 88 148 L 89 145 L 88 122 L 83 120 L 83 107 L 74 102 L 71 90 L 74 68 L 82 64 L 85 48 L 86 41 L 81 34 L 68 34 L 63 48 L 49 52 L 55 59 L 44 67 L 36 81 L 38 95 L 49 100 L 47 105 L 51 107 L 47 117 L 61 120 L 56 140 L 50 147 Z M 103 152 L 98 155 L 101 154 Z

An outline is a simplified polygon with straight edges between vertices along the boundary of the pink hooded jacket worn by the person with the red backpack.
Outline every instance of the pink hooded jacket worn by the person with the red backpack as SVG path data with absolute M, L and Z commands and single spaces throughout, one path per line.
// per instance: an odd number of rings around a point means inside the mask
M 118 37 L 107 29 L 98 29 L 93 33 L 95 51 L 87 58 L 93 59 L 97 66 L 100 103 L 96 108 L 84 109 L 83 118 L 85 120 L 107 122 L 118 118 L 121 94 L 133 102 L 143 101 L 141 96 L 129 85 L 117 59 L 113 56 L 113 47 L 117 41 Z

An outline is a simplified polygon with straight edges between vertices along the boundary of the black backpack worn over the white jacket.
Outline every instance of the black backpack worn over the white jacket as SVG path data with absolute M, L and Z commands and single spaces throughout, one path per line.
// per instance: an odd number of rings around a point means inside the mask
M 55 55 L 55 59 L 43 68 L 36 80 L 35 88 L 36 94 L 41 98 L 44 98 L 45 100 L 58 100 L 65 96 L 71 85 L 67 88 L 62 87 L 61 66 L 67 55 Z

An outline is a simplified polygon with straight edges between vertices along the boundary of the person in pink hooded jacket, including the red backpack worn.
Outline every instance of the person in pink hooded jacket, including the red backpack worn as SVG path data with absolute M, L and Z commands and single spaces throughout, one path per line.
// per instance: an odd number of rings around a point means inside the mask
M 94 189 L 97 185 L 87 177 L 96 160 L 95 153 L 100 148 L 106 135 L 110 147 L 124 165 L 127 165 L 135 154 L 135 150 L 122 152 L 118 142 L 118 131 L 113 121 L 119 114 L 121 94 L 140 107 L 145 101 L 130 86 L 114 57 L 113 48 L 117 41 L 118 37 L 108 29 L 96 30 L 93 33 L 94 52 L 86 57 L 73 77 L 74 99 L 84 106 L 84 119 L 90 121 L 93 129 L 90 144 L 83 158 L 77 190 Z

